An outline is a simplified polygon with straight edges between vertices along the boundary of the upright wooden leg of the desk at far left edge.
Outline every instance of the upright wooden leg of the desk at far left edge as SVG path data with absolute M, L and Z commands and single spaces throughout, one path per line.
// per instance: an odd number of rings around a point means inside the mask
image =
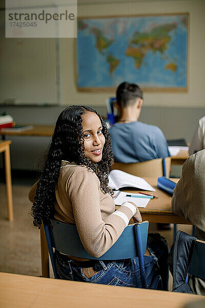
M 9 220 L 13 221 L 13 198 L 12 198 L 12 185 L 11 185 L 11 160 L 10 160 L 9 145 L 6 147 L 4 157 L 5 157 L 8 216 L 9 216 Z

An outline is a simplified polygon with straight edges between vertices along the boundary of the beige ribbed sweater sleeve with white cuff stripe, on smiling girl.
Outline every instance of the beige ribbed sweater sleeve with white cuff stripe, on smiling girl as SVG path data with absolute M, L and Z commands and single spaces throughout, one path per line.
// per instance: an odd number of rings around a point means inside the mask
M 135 214 L 129 206 L 122 205 L 104 221 L 100 211 L 99 190 L 97 176 L 88 170 L 73 174 L 67 183 L 80 240 L 87 252 L 97 258 L 105 254 L 116 242 Z M 111 196 L 108 200 L 114 203 Z

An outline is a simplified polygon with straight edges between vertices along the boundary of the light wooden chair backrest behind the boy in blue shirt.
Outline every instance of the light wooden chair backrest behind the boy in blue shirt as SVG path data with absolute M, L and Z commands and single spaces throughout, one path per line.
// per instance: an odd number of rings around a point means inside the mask
M 169 177 L 171 157 L 131 164 L 115 162 L 111 169 L 122 170 L 137 177 Z

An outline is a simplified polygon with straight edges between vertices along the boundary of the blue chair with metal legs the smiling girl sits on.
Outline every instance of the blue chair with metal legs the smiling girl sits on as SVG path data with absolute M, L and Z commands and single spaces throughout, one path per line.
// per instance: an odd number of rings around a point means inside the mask
M 52 227 L 44 223 L 44 230 L 48 244 L 49 255 L 53 268 L 54 277 L 57 279 L 57 269 L 53 248 L 63 254 L 92 260 L 119 260 L 138 257 L 142 288 L 162 289 L 161 277 L 153 273 L 151 281 L 145 279 L 145 266 L 143 255 L 146 253 L 148 221 L 128 225 L 118 240 L 100 258 L 91 256 L 80 241 L 76 225 L 70 225 L 56 220 L 51 220 Z

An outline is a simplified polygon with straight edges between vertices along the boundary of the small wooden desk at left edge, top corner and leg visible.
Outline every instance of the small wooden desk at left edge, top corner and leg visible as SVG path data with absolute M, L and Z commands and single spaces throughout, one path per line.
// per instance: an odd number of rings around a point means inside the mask
M 0 153 L 4 152 L 8 217 L 10 221 L 13 221 L 13 197 L 12 197 L 12 185 L 11 185 L 10 144 L 11 144 L 10 140 L 0 141 Z

